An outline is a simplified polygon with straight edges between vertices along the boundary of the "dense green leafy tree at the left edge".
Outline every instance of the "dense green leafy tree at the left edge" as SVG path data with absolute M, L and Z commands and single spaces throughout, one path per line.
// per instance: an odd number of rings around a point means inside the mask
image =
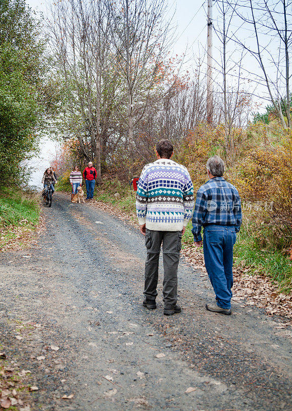
M 23 0 L 0 3 L 0 178 L 15 181 L 43 119 L 40 23 Z

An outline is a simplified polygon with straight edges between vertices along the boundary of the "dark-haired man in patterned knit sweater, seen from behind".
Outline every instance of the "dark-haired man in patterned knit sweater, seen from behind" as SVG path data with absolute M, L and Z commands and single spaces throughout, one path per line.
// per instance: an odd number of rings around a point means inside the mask
M 138 181 L 136 210 L 145 235 L 147 259 L 143 306 L 156 308 L 158 263 L 163 250 L 163 301 L 165 315 L 180 312 L 177 303 L 177 267 L 184 235 L 194 207 L 193 184 L 188 170 L 171 160 L 173 145 L 160 140 L 158 160 L 144 166 Z

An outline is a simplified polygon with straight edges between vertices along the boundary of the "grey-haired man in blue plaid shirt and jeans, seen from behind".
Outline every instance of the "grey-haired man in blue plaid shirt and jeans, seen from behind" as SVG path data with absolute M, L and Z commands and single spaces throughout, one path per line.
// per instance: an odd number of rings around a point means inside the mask
M 235 187 L 223 178 L 224 161 L 220 157 L 209 158 L 207 172 L 209 181 L 197 192 L 192 233 L 197 247 L 203 242 L 205 266 L 216 294 L 217 304 L 206 304 L 206 308 L 230 315 L 233 246 L 242 223 L 241 200 Z

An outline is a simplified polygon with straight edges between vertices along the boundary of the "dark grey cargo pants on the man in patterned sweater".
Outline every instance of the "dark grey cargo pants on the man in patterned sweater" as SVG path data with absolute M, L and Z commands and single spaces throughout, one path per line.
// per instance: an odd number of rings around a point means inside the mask
M 148 300 L 157 296 L 158 264 L 161 243 L 163 251 L 163 301 L 165 307 L 172 307 L 177 301 L 177 267 L 181 250 L 181 231 L 153 231 L 146 229 L 145 246 L 147 259 L 145 262 L 144 295 Z

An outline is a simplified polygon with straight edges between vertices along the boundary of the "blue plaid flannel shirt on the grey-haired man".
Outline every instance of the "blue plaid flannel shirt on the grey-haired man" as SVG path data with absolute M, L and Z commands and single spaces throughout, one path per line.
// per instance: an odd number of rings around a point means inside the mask
M 235 187 L 223 177 L 214 177 L 200 186 L 193 214 L 194 241 L 202 240 L 202 226 L 234 226 L 238 233 L 242 223 L 241 200 Z

